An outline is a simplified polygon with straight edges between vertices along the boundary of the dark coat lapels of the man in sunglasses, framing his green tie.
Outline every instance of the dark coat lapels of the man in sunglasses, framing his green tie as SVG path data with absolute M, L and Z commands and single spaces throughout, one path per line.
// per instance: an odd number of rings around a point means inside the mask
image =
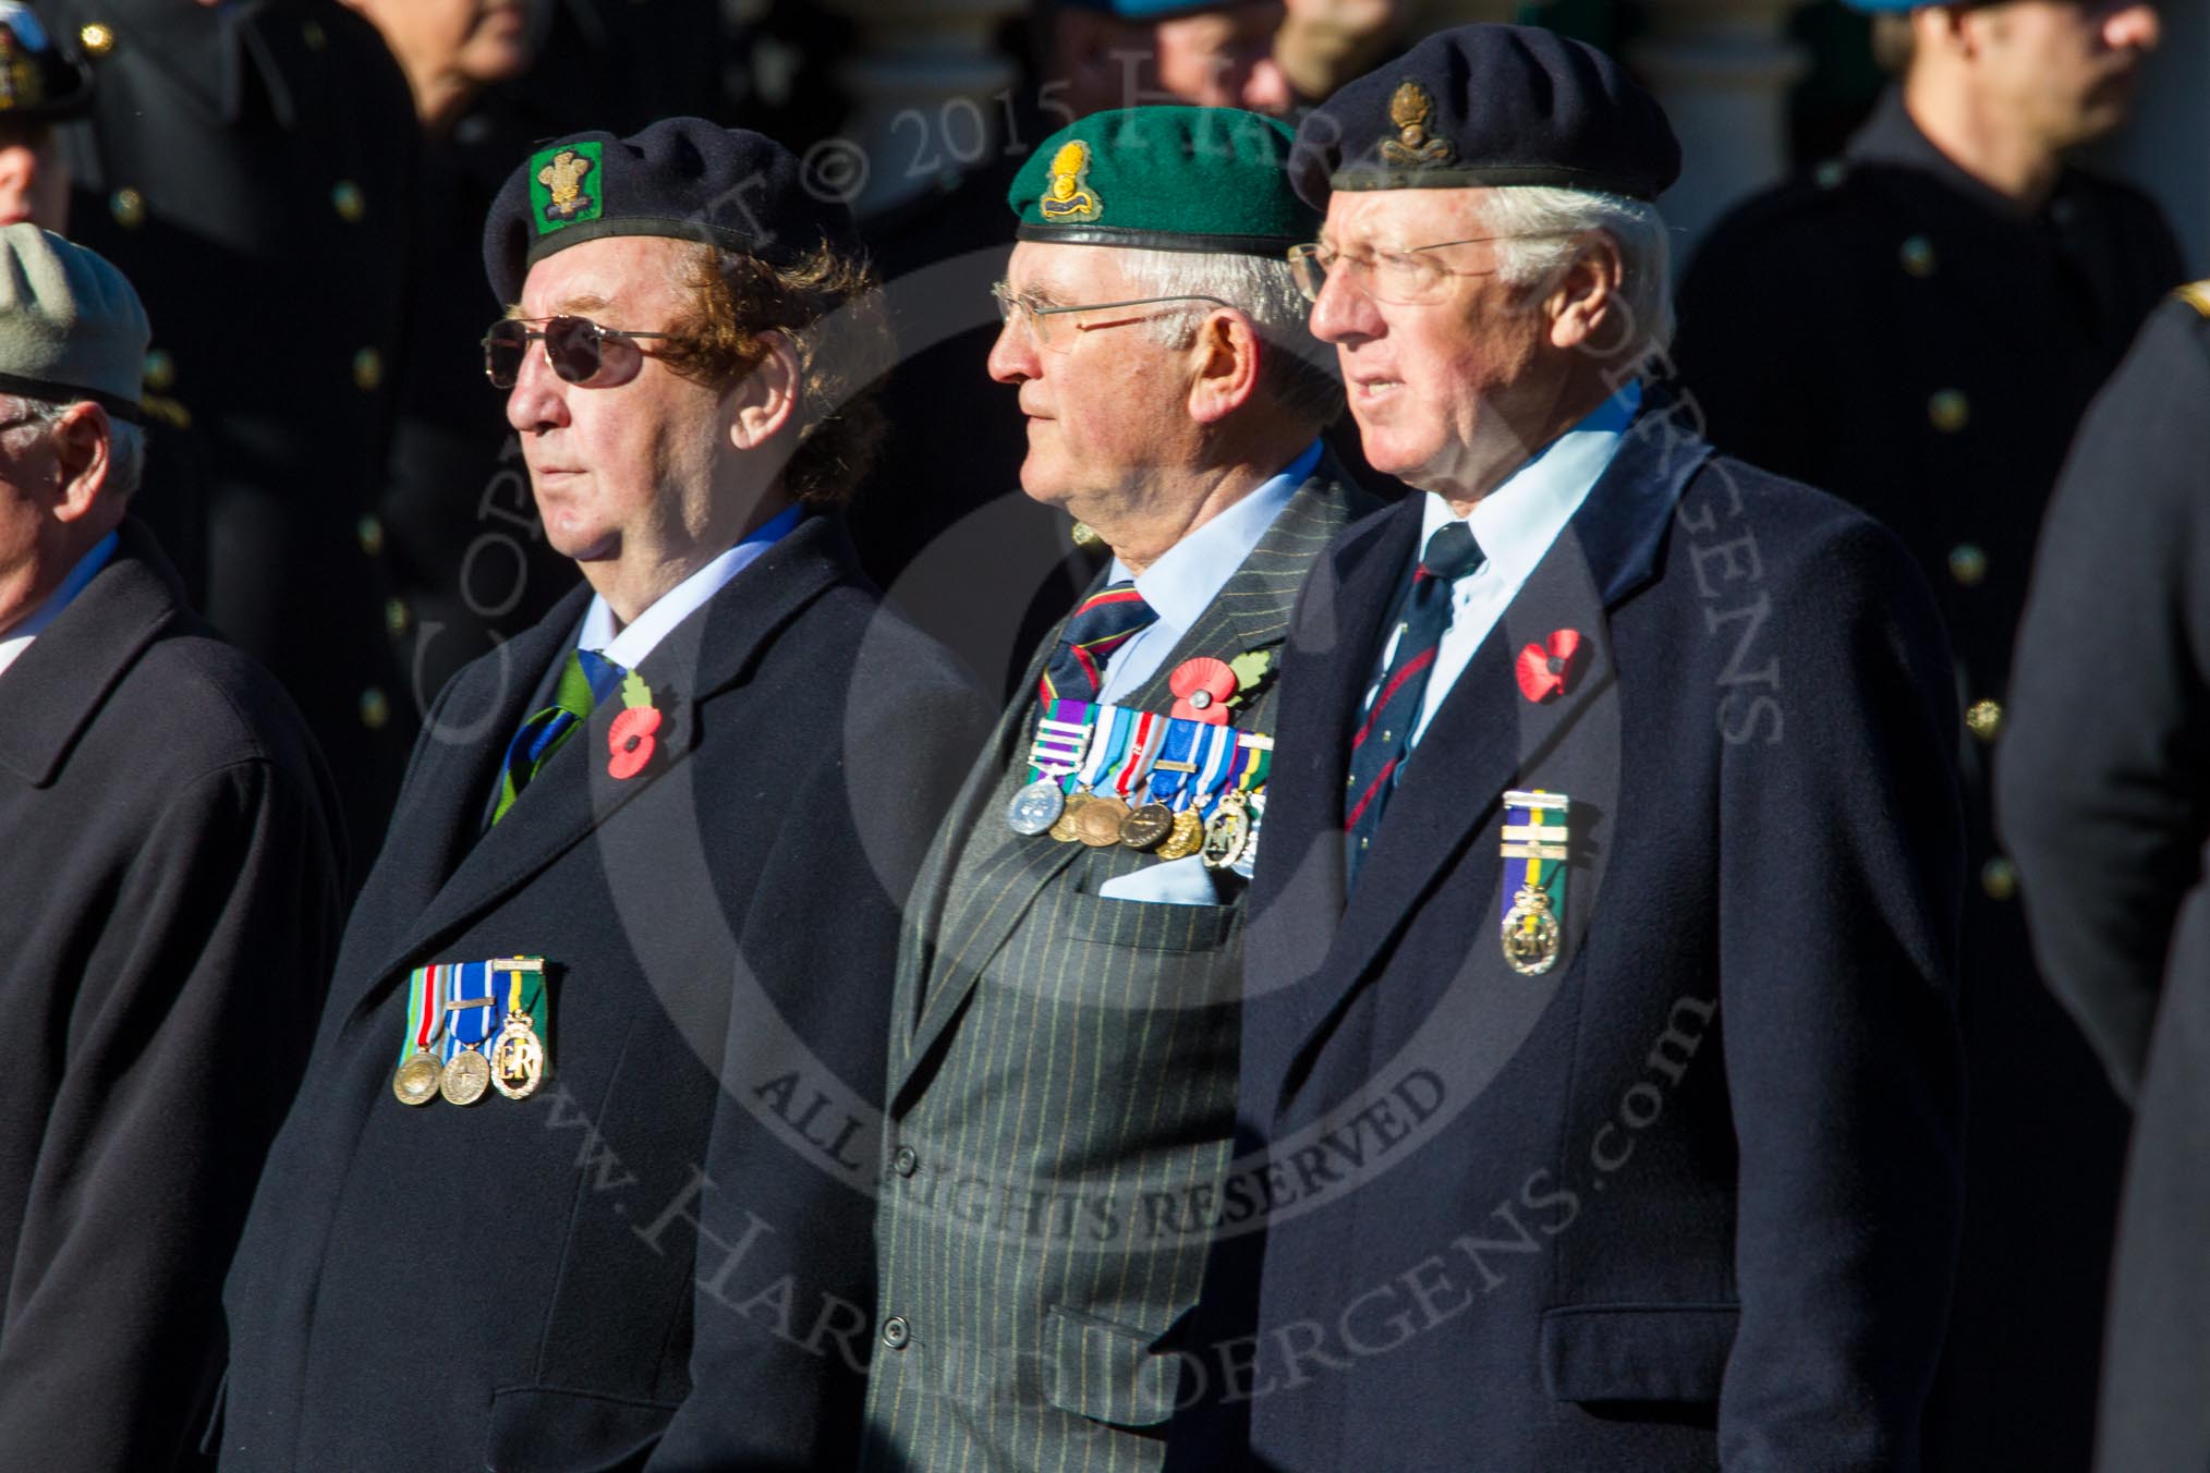
M 373 1003 L 378 985 L 429 961 L 438 941 L 473 916 L 526 886 L 548 863 L 612 819 L 621 808 L 685 762 L 701 735 L 701 704 L 734 685 L 776 632 L 798 616 L 853 561 L 842 523 L 827 517 L 800 521 L 751 568 L 729 581 L 705 607 L 676 625 L 636 674 L 652 689 L 661 711 L 654 755 L 641 773 L 619 780 L 608 771 L 608 731 L 623 704 L 599 702 L 590 722 L 575 731 L 499 819 L 477 837 L 484 793 L 497 773 L 506 740 L 526 716 L 530 689 L 515 685 L 493 702 L 484 735 L 453 751 L 451 771 L 422 784 L 427 813 L 409 815 L 409 830 L 427 830 L 429 844 L 457 850 L 455 868 L 396 945 L 362 978 L 356 1007 Z M 522 669 L 541 671 L 566 654 L 579 607 L 561 603 L 528 636 L 517 654 Z M 522 640 L 515 640 L 517 645 Z M 524 663 L 526 660 L 526 663 Z M 400 841 L 393 826 L 391 841 Z

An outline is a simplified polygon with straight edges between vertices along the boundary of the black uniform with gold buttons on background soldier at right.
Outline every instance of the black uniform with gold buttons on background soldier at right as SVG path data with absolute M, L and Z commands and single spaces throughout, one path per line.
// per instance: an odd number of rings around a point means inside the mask
M 2086 1466 L 2102 1281 L 2071 1268 L 2108 1252 L 2124 1120 L 2033 981 L 1989 764 L 2042 508 L 2088 400 L 2179 274 L 2137 190 L 2066 168 L 2027 214 L 1890 95 L 1843 159 L 1722 221 L 1682 285 L 1675 358 L 1713 442 L 1894 528 L 1956 649 L 1976 1144 L 1929 1464 Z M 2020 1283 L 2049 1292 L 2029 1303 Z

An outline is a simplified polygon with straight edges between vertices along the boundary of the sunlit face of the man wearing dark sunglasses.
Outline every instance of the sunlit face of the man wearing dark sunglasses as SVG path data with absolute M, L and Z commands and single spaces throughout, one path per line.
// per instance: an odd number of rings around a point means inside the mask
M 696 250 L 643 236 L 570 245 L 530 267 L 522 316 L 665 331 L 683 316 L 676 278 Z M 583 389 L 552 373 L 544 347 L 530 345 L 506 395 L 546 541 L 601 587 L 623 570 L 687 570 L 703 550 L 720 550 L 707 543 L 716 475 L 736 455 L 725 395 L 672 373 L 654 347 L 641 345 L 645 360 L 625 384 Z

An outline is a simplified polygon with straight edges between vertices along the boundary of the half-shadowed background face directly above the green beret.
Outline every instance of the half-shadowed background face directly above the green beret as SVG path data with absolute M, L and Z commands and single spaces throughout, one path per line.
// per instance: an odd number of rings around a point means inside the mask
M 1244 0 L 1132 24 L 1067 9 L 1056 80 L 1076 115 L 1162 102 L 1284 115 L 1293 95 L 1273 60 L 1282 13 L 1282 0 Z

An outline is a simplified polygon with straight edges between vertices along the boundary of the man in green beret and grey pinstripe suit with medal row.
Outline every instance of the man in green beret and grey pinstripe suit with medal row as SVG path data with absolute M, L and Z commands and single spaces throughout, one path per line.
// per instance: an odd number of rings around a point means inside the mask
M 1202 1387 L 1235 1124 L 1242 894 L 1275 654 L 1370 506 L 1319 446 L 1284 126 L 1101 113 L 1048 139 L 990 375 L 1023 490 L 1109 568 L 1043 640 L 908 914 L 893 998 L 873 1469 L 1149 1469 Z

